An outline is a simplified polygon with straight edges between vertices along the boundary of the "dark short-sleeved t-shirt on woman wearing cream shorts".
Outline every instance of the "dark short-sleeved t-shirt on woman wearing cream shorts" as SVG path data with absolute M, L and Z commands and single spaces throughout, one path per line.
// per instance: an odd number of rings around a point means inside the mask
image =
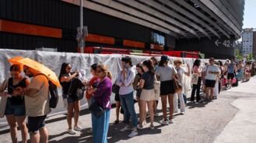
M 154 89 L 154 80 L 155 75 L 149 72 L 142 74 L 142 79 L 145 80 L 143 89 L 145 90 L 153 90 Z

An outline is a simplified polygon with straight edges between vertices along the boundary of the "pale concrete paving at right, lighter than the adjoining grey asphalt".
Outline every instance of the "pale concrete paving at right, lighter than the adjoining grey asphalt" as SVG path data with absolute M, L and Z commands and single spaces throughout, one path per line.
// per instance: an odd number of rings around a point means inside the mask
M 226 125 L 215 143 L 255 143 L 256 137 L 256 78 L 248 83 L 240 83 L 225 94 L 236 97 L 232 105 L 239 109 L 232 121 Z

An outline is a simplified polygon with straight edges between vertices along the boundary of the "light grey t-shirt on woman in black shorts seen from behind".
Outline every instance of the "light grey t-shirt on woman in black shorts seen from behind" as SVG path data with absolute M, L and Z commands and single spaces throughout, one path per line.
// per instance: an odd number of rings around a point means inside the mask
M 177 73 L 174 66 L 158 66 L 156 76 L 160 76 L 160 81 L 174 80 L 173 71 Z

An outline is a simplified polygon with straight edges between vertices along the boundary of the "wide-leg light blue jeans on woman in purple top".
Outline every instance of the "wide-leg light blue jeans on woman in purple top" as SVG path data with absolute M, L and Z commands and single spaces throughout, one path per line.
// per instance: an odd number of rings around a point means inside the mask
M 110 110 L 107 109 L 100 117 L 92 114 L 93 143 L 107 143 L 107 131 L 110 122 Z

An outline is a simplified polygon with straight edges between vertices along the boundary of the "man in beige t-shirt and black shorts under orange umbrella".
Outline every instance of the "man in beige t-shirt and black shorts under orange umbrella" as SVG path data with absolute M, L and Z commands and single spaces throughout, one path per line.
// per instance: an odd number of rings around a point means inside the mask
M 48 131 L 44 120 L 51 112 L 49 107 L 49 84 L 43 74 L 24 66 L 24 73 L 33 77 L 29 87 L 23 91 L 25 96 L 26 115 L 28 116 L 28 130 L 31 143 L 47 143 Z

